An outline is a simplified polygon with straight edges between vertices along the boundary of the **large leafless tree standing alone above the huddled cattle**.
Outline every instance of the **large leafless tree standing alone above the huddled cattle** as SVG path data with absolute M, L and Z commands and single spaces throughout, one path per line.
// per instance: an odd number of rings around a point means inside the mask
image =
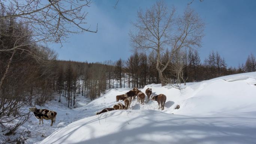
M 183 16 L 174 16 L 175 8 L 169 11 L 163 1 L 158 1 L 143 12 L 138 10 L 137 22 L 132 23 L 134 32 L 130 32 L 131 45 L 135 49 L 150 50 L 157 53 L 156 69 L 162 86 L 166 85 L 163 71 L 171 59 L 162 64 L 161 55 L 170 49 L 171 55 L 179 49 L 200 46 L 203 37 L 204 22 L 198 14 L 187 7 Z M 171 57 L 171 56 L 170 56 Z

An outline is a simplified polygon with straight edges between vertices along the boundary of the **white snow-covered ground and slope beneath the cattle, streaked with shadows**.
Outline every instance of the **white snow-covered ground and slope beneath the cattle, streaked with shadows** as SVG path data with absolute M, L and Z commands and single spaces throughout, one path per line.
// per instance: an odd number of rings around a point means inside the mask
M 256 72 L 188 83 L 181 90 L 172 86 L 147 85 L 152 95 L 165 94 L 165 109 L 156 101 L 141 105 L 132 101 L 128 110 L 114 110 L 95 116 L 116 104 L 116 95 L 129 88 L 112 89 L 81 107 L 69 109 L 51 101 L 46 108 L 57 111 L 54 126 L 31 117 L 24 127 L 38 144 L 255 144 Z M 82 97 L 81 97 L 82 99 Z M 122 102 L 124 104 L 124 102 Z M 87 105 L 86 105 L 87 104 Z M 175 110 L 176 105 L 180 108 Z M 85 106 L 83 106 L 85 105 Z M 33 137 L 32 136 L 32 137 Z M 46 137 L 46 138 L 45 138 Z

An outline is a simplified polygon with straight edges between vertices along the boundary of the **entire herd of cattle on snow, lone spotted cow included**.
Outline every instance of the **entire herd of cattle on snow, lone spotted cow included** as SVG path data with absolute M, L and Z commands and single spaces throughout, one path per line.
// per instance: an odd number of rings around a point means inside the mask
M 152 89 L 147 88 L 146 89 L 146 95 L 147 95 L 147 102 L 149 101 L 150 95 L 152 95 Z M 125 102 L 125 105 L 122 103 L 115 104 L 113 108 L 104 108 L 102 111 L 96 113 L 101 114 L 105 113 L 107 111 L 112 111 L 112 110 L 123 110 L 123 109 L 128 109 L 131 105 L 132 100 L 134 100 L 137 96 L 137 101 L 140 102 L 141 104 L 144 104 L 144 99 L 145 99 L 145 94 L 138 90 L 138 88 L 133 88 L 131 91 L 123 94 L 123 95 L 117 95 L 116 96 L 116 102 L 119 100 L 123 100 Z M 166 96 L 164 94 L 152 96 L 151 100 L 157 101 L 158 102 L 158 107 L 162 108 L 164 110 L 164 104 L 166 101 Z M 46 109 L 37 109 L 36 107 L 31 107 L 29 108 L 30 111 L 34 113 L 37 119 L 39 119 L 39 125 L 43 124 L 43 119 L 45 120 L 51 120 L 51 126 L 53 123 L 55 123 L 56 115 L 57 112 L 53 110 L 46 110 Z

